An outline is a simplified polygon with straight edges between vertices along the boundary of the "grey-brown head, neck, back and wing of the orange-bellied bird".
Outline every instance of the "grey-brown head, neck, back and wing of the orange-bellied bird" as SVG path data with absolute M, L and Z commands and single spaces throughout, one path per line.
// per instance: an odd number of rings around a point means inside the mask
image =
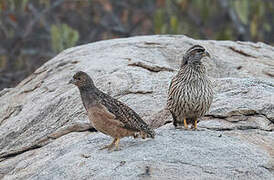
M 115 116 L 115 120 L 122 122 L 123 128 L 145 132 L 151 138 L 154 138 L 155 132 L 151 129 L 143 119 L 126 104 L 105 94 L 95 87 L 92 79 L 85 72 L 77 72 L 73 78 L 76 78 L 75 85 L 78 86 L 83 104 L 88 111 L 90 107 L 95 105 L 103 105 Z

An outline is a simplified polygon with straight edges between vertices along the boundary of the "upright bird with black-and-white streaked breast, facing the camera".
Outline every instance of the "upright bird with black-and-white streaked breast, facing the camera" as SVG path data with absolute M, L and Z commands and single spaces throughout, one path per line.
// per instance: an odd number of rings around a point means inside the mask
M 183 56 L 181 67 L 169 86 L 167 107 L 173 117 L 173 125 L 197 129 L 198 118 L 205 115 L 213 100 L 213 87 L 202 63 L 209 53 L 200 45 L 194 45 Z

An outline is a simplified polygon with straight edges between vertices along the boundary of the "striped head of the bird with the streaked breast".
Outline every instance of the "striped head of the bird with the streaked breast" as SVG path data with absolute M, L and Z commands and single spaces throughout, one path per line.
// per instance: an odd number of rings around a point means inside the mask
M 186 51 L 183 57 L 182 66 L 187 64 L 194 66 L 200 65 L 202 63 L 201 59 L 206 56 L 210 58 L 209 53 L 203 46 L 194 45 Z

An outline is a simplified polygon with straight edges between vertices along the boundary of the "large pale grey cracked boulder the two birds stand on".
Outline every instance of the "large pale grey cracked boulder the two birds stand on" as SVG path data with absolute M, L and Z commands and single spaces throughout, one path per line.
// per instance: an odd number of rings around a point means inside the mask
M 204 59 L 215 88 L 198 124 L 204 131 L 161 127 L 171 121 L 169 82 L 194 44 L 212 56 Z M 142 36 L 67 49 L 0 92 L 0 178 L 273 179 L 273 69 L 274 48 L 264 43 Z M 156 139 L 125 138 L 122 151 L 98 151 L 111 139 L 90 132 L 79 92 L 68 85 L 79 70 L 161 127 Z

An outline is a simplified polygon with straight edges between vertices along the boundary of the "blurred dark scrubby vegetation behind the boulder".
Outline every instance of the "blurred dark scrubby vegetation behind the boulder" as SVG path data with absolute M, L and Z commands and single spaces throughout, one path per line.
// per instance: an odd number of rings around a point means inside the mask
M 274 44 L 273 0 L 0 0 L 0 90 L 60 51 L 152 34 Z

